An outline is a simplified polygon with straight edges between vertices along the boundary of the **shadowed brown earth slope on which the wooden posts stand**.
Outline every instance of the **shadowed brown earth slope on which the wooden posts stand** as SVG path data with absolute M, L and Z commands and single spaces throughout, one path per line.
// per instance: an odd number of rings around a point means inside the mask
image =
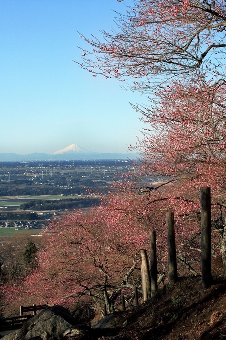
M 74 339 L 226 339 L 226 277 L 215 276 L 206 290 L 201 289 L 201 277 L 181 277 L 175 285 L 160 289 L 149 303 L 116 315 L 108 327 Z

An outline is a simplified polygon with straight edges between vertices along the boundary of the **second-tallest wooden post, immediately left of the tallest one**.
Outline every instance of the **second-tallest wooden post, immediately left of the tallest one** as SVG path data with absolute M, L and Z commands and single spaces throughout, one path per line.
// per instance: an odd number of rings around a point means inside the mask
M 169 259 L 169 282 L 177 281 L 177 257 L 176 257 L 176 242 L 174 230 L 174 215 L 172 212 L 166 213 L 167 227 L 167 244 L 168 244 L 168 259 Z

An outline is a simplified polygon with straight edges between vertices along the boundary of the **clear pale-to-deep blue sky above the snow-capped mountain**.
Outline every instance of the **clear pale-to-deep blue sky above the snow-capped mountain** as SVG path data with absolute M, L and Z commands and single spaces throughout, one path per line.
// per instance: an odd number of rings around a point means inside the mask
M 53 153 L 70 144 L 125 153 L 142 124 L 129 102 L 144 103 L 117 80 L 93 77 L 73 60 L 89 49 L 77 33 L 101 38 L 112 11 L 131 0 L 0 1 L 0 153 Z

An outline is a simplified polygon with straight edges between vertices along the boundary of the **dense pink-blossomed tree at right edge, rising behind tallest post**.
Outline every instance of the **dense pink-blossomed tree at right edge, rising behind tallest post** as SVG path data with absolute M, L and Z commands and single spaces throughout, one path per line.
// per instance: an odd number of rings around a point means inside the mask
M 183 235 L 191 237 L 200 230 L 200 187 L 211 187 L 212 226 L 218 230 L 213 243 L 220 243 L 226 271 L 226 85 L 196 76 L 156 92 L 151 107 L 135 107 L 147 126 L 137 148 L 141 173 L 167 180 L 142 190 L 149 204 L 164 193 L 165 206 L 184 224 Z

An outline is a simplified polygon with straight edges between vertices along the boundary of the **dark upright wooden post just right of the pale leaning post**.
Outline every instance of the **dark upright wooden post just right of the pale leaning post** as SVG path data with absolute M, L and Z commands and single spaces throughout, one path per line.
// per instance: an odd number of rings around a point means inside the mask
M 150 238 L 150 274 L 151 274 L 151 296 L 154 296 L 158 289 L 157 278 L 157 250 L 156 250 L 156 232 L 149 233 Z

